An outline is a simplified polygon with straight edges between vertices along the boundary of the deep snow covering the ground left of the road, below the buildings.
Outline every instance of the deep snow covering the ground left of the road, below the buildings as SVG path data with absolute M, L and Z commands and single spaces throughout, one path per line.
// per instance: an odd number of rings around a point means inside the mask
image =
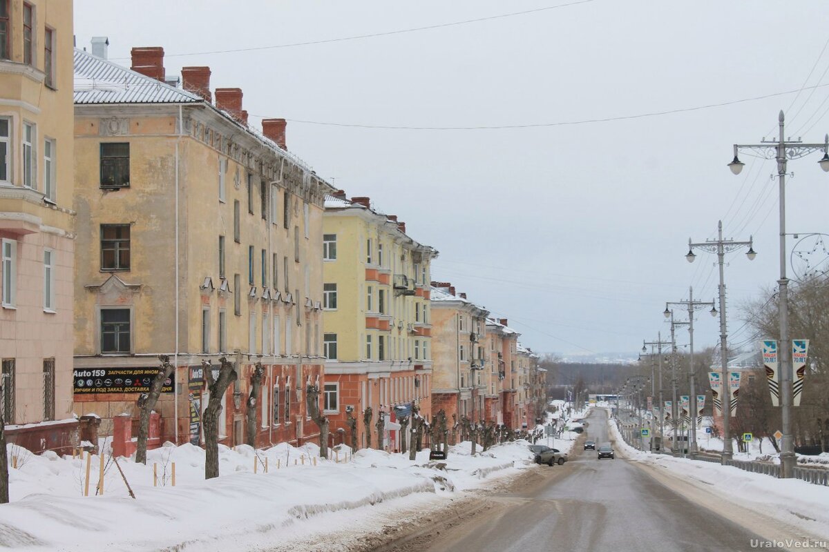
M 572 439 L 555 439 L 569 452 Z M 269 550 L 290 540 L 307 550 L 309 535 L 342 550 L 343 531 L 361 531 L 413 511 L 438 507 L 460 492 L 532 468 L 527 442 L 497 445 L 472 456 L 471 444 L 451 447 L 445 469 L 429 463 L 429 450 L 408 454 L 363 449 L 340 462 L 317 459 L 318 447 L 280 444 L 254 451 L 220 446 L 221 477 L 204 480 L 204 450 L 167 444 L 148 452 L 148 464 L 120 458 L 136 499 L 109 463 L 104 495 L 95 496 L 99 457 L 92 456 L 90 497 L 83 496 L 85 458 L 42 456 L 9 445 L 11 501 L 0 506 L 0 548 L 12 550 Z M 539 444 L 545 444 L 541 439 Z M 269 473 L 264 473 L 267 458 Z M 172 463 L 176 486 L 172 487 Z M 254 465 L 257 464 L 254 473 Z M 158 487 L 153 487 L 153 464 Z M 337 541 L 331 535 L 337 534 Z M 318 544 L 319 544 L 318 543 Z M 339 549 L 337 549 L 339 544 Z M 313 550 L 328 550 L 324 545 Z

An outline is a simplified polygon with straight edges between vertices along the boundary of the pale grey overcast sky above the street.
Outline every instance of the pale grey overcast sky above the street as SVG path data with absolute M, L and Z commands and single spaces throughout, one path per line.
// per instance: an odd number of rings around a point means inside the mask
M 87 49 L 109 36 L 110 59 L 126 66 L 133 46 L 163 46 L 167 74 L 209 65 L 211 87 L 241 88 L 255 125 L 287 118 L 290 151 L 397 214 L 439 250 L 433 280 L 509 319 L 533 350 L 634 354 L 643 338 L 666 338 L 666 301 L 686 300 L 689 286 L 716 300 L 715 255 L 684 256 L 720 218 L 726 238 L 754 234 L 756 260 L 737 252 L 725 268 L 730 341 L 753 346 L 739 306 L 778 278 L 776 169 L 748 154 L 742 175 L 726 164 L 735 142 L 776 135 L 781 109 L 787 134 L 823 142 L 827 7 L 75 0 L 75 35 Z M 215 53 L 262 46 L 284 47 Z M 623 119 L 584 122 L 608 118 Z M 789 163 L 788 232 L 829 232 L 820 157 Z M 825 251 L 812 242 L 798 251 L 814 264 Z M 702 311 L 695 324 L 695 348 L 718 342 L 717 319 Z

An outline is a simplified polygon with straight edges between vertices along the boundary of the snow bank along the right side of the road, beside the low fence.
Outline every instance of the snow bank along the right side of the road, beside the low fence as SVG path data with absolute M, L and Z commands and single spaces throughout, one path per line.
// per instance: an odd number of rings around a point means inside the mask
M 616 449 L 627 458 L 705 483 L 726 501 L 829 539 L 829 487 L 749 473 L 733 466 L 642 452 L 624 442 L 615 420 L 610 420 L 609 425 Z

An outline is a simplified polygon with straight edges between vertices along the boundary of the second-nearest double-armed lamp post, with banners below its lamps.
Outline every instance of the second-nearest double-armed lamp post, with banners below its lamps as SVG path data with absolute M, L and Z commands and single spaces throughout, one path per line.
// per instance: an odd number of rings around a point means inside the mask
M 691 242 L 691 238 L 688 238 L 688 254 L 685 258 L 688 262 L 694 262 L 696 259 L 696 255 L 694 254 L 694 248 L 702 249 L 703 251 L 716 253 L 717 254 L 717 262 L 720 265 L 720 362 L 722 366 L 722 382 L 724 385 L 728 382 L 728 333 L 725 329 L 726 319 L 725 319 L 725 271 L 724 271 L 724 264 L 725 264 L 725 253 L 732 252 L 740 247 L 749 247 L 749 251 L 745 253 L 746 257 L 749 257 L 749 261 L 754 261 L 754 257 L 757 257 L 757 253 L 754 252 L 754 239 L 749 236 L 748 242 L 735 242 L 733 239 L 723 239 L 723 221 L 719 221 L 717 223 L 717 239 L 715 240 L 705 240 L 702 243 L 693 243 Z M 731 418 L 731 396 L 728 389 L 725 389 L 725 393 L 720 393 L 720 405 L 721 410 L 723 413 L 723 454 L 722 454 L 722 462 L 725 463 L 725 460 L 730 460 L 731 455 L 734 452 L 731 443 L 731 433 L 730 433 L 730 418 Z M 695 413 L 696 415 L 696 413 Z

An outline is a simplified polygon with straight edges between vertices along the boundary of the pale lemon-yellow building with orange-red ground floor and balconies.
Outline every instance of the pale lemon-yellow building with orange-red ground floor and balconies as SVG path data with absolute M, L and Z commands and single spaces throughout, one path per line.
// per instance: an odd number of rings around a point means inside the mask
M 365 446 L 362 413 L 371 406 L 372 446 L 381 412 L 383 446 L 397 450 L 395 420 L 412 405 L 427 418 L 431 410 L 429 266 L 438 252 L 409 238 L 394 215 L 371 209 L 369 198 L 349 200 L 342 190 L 326 200 L 323 228 L 324 412 L 332 438 L 347 430 L 351 411 Z

